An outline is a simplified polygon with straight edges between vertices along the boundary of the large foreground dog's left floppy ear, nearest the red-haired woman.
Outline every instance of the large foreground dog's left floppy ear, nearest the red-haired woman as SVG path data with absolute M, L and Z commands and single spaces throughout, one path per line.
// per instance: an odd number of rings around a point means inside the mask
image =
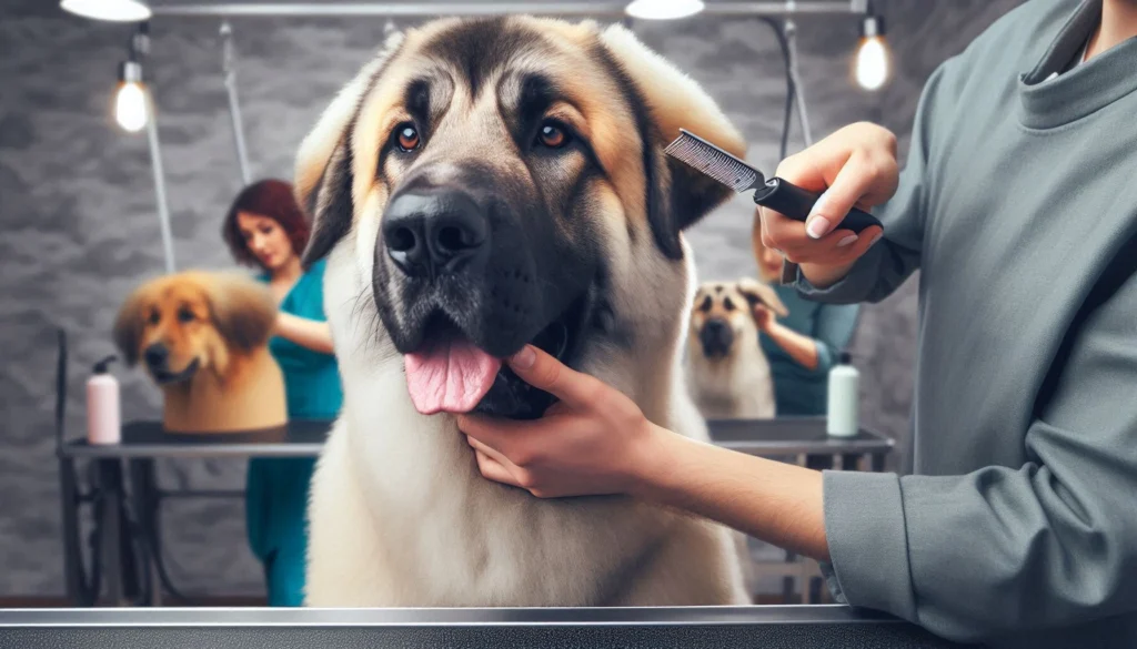
M 305 268 L 326 256 L 351 230 L 351 125 L 364 95 L 402 43 L 402 32 L 388 36 L 383 49 L 324 110 L 300 143 L 296 157 L 296 199 L 312 221 L 312 235 L 301 256 Z

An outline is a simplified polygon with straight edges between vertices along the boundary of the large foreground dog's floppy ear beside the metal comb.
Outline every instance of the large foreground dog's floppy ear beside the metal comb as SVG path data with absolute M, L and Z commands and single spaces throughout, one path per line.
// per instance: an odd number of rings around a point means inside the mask
M 649 133 L 642 134 L 647 148 L 644 163 L 649 183 L 648 219 L 663 251 L 680 258 L 679 233 L 725 202 L 732 192 L 671 158 L 663 149 L 679 136 L 680 128 L 740 158 L 746 156 L 746 141 L 698 83 L 648 49 L 623 25 L 604 30 L 600 42 L 646 105 L 650 127 Z

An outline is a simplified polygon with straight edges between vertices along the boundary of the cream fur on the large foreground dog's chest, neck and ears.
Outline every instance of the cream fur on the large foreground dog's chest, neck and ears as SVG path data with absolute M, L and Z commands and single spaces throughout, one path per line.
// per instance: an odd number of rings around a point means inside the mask
M 597 32 L 590 24 L 540 24 L 550 34 L 567 34 L 566 42 L 576 39 L 587 44 L 599 38 L 612 43 L 666 135 L 677 135 L 680 126 L 694 127 L 741 152 L 738 133 L 702 90 L 630 33 L 621 27 Z M 428 25 L 406 40 L 426 39 L 432 30 Z M 650 76 L 641 76 L 645 69 Z M 297 174 L 304 205 L 324 200 L 316 195 L 313 201 L 308 194 L 321 192 L 323 169 L 335 156 L 334 142 L 364 136 L 360 130 L 351 135 L 343 130 L 366 85 L 352 82 L 301 148 Z M 642 185 L 644 172 L 637 173 Z M 370 176 L 364 180 L 370 182 Z M 491 482 L 479 474 L 451 416 L 415 410 L 402 359 L 371 297 L 373 250 L 385 195 L 368 190 L 358 174 L 354 182 L 352 191 L 362 200 L 355 203 L 351 231 L 327 256 L 325 275 L 325 307 L 345 407 L 312 488 L 306 604 L 749 604 L 738 555 L 724 527 L 626 498 L 542 500 Z M 653 422 L 706 441 L 705 423 L 687 392 L 681 366 L 686 306 L 696 285 L 690 250 L 683 261 L 666 259 L 633 205 L 614 191 L 600 198 L 607 213 L 601 239 L 611 264 L 613 308 L 634 331 L 634 341 L 630 350 L 592 342 L 579 367 L 631 397 Z

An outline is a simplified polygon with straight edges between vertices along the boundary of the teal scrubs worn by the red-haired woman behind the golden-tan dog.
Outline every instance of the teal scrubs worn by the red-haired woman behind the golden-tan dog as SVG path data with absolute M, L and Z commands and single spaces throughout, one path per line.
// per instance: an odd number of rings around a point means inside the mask
M 326 321 L 323 260 L 297 280 L 280 310 Z M 268 282 L 267 275 L 258 277 Z M 280 336 L 268 350 L 284 375 L 290 419 L 331 419 L 343 403 L 339 366 L 333 355 L 312 351 Z M 315 458 L 254 458 L 249 460 L 246 524 L 252 554 L 264 564 L 269 606 L 300 606 L 304 600 L 307 551 L 308 486 Z

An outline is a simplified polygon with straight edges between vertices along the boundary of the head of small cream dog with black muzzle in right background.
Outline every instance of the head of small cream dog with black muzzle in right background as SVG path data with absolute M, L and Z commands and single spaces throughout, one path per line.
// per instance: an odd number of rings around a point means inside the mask
M 786 305 L 769 285 L 750 278 L 706 282 L 695 292 L 689 347 L 708 360 L 733 358 L 740 340 L 757 340 L 756 311 L 787 316 Z

